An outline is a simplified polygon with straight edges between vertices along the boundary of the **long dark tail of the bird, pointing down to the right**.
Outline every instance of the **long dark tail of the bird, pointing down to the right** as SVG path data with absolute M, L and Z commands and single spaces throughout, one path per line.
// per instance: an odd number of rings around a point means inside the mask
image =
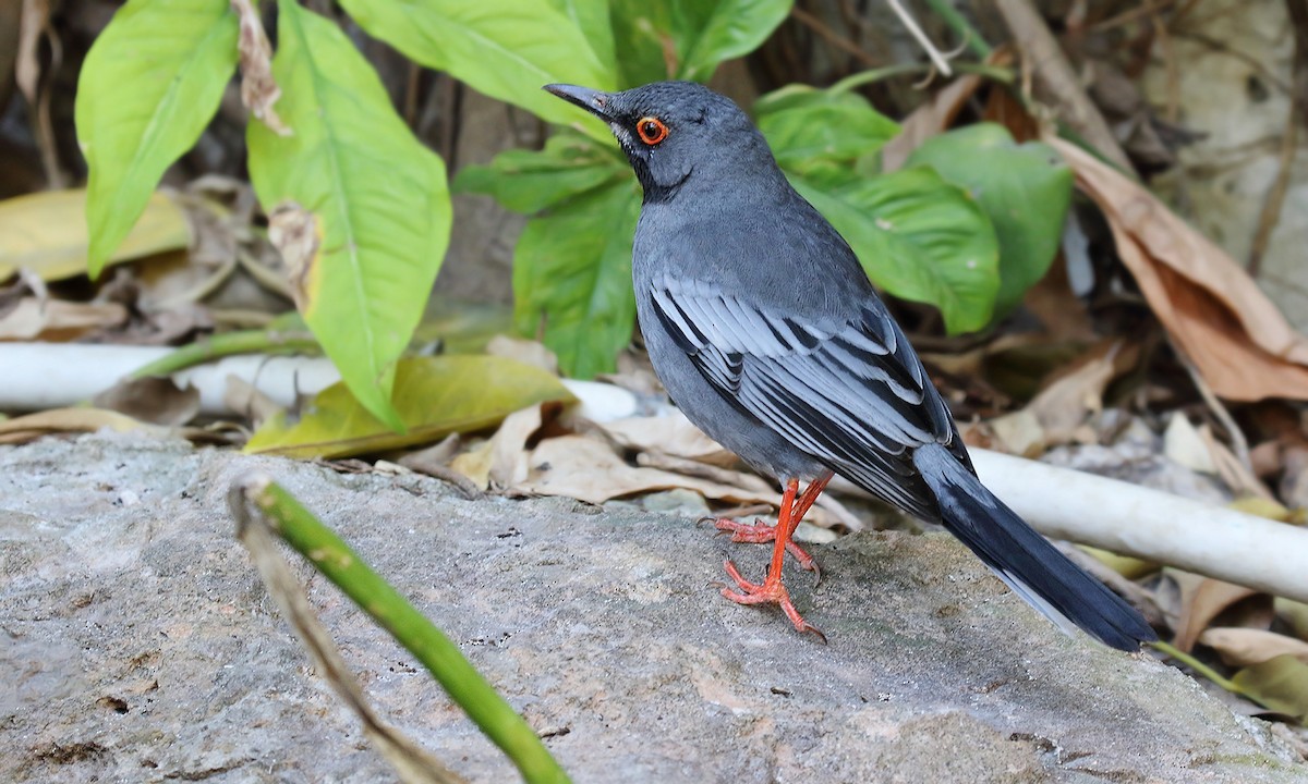
M 1063 631 L 1079 626 L 1122 651 L 1158 639 L 1135 609 L 1036 533 L 948 449 L 920 447 L 913 464 L 935 493 L 944 528 Z

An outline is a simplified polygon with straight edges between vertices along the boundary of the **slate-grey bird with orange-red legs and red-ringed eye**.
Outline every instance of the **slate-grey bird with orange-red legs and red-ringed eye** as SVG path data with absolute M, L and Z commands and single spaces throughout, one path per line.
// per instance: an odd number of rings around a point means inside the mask
M 607 123 L 640 180 L 632 281 L 655 375 L 691 422 L 783 487 L 776 527 L 718 523 L 735 541 L 773 542 L 761 583 L 726 561 L 726 598 L 780 605 L 825 640 L 795 609 L 782 566 L 789 550 L 812 567 L 794 531 L 838 473 L 939 523 L 1067 634 L 1079 627 L 1122 651 L 1156 639 L 981 483 L 854 251 L 790 186 L 740 107 L 685 81 L 544 89 Z

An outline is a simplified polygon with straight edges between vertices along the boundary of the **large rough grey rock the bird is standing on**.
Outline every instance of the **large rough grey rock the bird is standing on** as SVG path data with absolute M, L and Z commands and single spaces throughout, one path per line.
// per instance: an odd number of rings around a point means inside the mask
M 271 474 L 412 597 L 587 781 L 1305 781 L 1184 674 L 1059 635 L 944 536 L 816 547 L 831 638 L 715 595 L 765 547 L 560 499 L 124 436 L 0 448 L 0 780 L 394 780 L 311 672 L 225 494 Z M 322 578 L 381 713 L 475 781 L 515 772 Z

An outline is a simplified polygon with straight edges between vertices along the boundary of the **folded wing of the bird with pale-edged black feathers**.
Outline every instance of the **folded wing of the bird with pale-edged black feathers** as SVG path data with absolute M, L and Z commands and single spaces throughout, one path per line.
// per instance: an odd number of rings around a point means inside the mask
M 971 468 L 948 408 L 878 299 L 819 324 L 704 281 L 663 277 L 650 295 L 663 327 L 729 400 L 869 491 L 934 519 L 913 448 L 942 443 Z

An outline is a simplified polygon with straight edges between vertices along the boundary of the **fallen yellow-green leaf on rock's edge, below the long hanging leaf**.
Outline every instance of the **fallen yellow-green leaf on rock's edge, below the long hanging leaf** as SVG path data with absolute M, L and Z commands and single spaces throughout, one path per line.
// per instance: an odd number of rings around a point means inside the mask
M 496 425 L 515 410 L 572 393 L 545 370 L 504 357 L 402 359 L 395 372 L 395 410 L 407 429 L 390 426 L 360 404 L 343 383 L 310 401 L 294 425 L 273 417 L 246 444 L 246 453 L 344 457 L 439 440 Z

